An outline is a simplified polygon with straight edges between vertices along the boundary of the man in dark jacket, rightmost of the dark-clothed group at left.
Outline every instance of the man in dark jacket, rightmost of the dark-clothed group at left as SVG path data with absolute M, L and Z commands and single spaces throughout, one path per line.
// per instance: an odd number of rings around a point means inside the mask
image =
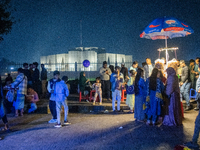
M 44 68 L 44 64 L 41 64 L 41 80 L 42 80 L 42 97 L 45 97 L 46 95 L 46 83 L 47 83 L 47 70 Z

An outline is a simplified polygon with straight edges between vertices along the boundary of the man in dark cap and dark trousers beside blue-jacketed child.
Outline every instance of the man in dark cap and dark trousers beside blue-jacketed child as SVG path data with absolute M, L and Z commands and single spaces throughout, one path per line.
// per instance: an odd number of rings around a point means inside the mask
M 55 93 L 55 86 L 56 82 L 60 82 L 60 72 L 59 71 L 54 71 L 53 72 L 54 78 L 48 81 L 48 86 L 47 90 L 51 94 L 50 99 L 49 99 L 49 109 L 51 111 L 51 114 L 53 118 L 49 121 L 49 123 L 56 123 L 57 122 L 57 112 L 56 112 L 56 93 Z

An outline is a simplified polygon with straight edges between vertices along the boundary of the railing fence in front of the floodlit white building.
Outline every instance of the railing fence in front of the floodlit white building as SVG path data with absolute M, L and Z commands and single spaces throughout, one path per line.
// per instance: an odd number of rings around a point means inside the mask
M 121 66 L 122 62 L 108 62 L 109 65 Z M 132 65 L 132 62 L 124 63 L 127 68 Z M 17 76 L 17 69 L 23 67 L 23 64 L 13 64 L 0 67 L 0 73 L 4 79 L 7 76 L 7 73 L 11 73 L 11 76 L 14 78 Z M 38 66 L 40 69 L 40 66 Z M 61 77 L 67 75 L 69 79 L 74 80 L 79 78 L 80 72 L 84 71 L 87 78 L 95 79 L 99 76 L 99 70 L 102 67 L 102 63 L 90 63 L 89 67 L 84 67 L 82 63 L 51 63 L 45 64 L 47 69 L 48 79 L 53 77 L 53 71 L 60 71 Z M 41 69 L 40 69 L 41 70 Z

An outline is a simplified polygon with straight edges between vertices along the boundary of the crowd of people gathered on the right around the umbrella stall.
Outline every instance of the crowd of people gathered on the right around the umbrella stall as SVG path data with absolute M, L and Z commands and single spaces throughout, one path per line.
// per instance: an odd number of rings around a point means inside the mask
M 98 92 L 100 98 L 105 97 L 107 101 L 111 101 L 113 113 L 118 113 L 120 110 L 120 102 L 122 90 L 126 89 L 127 98 L 126 104 L 130 108 L 129 113 L 134 112 L 136 121 L 144 122 L 147 125 L 155 126 L 161 123 L 167 126 L 180 126 L 183 119 L 182 100 L 186 101 L 184 111 L 191 110 L 190 90 L 196 91 L 197 106 L 194 110 L 199 110 L 199 93 L 200 93 L 200 58 L 191 59 L 187 66 L 184 60 L 173 59 L 166 62 L 164 58 L 157 59 L 155 64 L 151 63 L 150 58 L 146 58 L 146 62 L 142 63 L 142 67 L 138 66 L 138 62 L 134 61 L 132 66 L 127 69 L 124 64 L 119 66 L 107 66 L 107 62 L 103 62 L 103 67 L 100 69 L 100 79 L 96 80 L 98 84 Z M 114 69 L 115 68 L 115 69 Z M 84 74 L 84 72 L 82 72 Z M 89 80 L 85 78 L 85 82 L 80 82 L 82 93 L 88 94 L 85 87 Z M 102 88 L 102 89 L 101 89 Z M 101 92 L 99 92 L 101 91 Z M 110 95 L 112 92 L 112 96 Z M 102 93 L 102 94 L 101 94 Z M 95 105 L 95 101 L 93 105 Z M 115 102 L 117 101 L 117 110 Z M 102 100 L 100 101 L 102 105 Z M 195 122 L 195 134 L 192 142 L 188 145 L 197 147 L 197 139 L 200 131 L 200 115 Z

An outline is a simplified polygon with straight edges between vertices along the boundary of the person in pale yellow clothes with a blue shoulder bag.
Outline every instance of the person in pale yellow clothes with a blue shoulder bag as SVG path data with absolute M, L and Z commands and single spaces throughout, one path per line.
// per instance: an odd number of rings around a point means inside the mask
M 130 78 L 128 76 L 126 77 L 128 79 L 128 83 L 127 83 L 128 86 L 131 86 L 131 85 L 134 84 L 134 82 L 135 82 L 135 74 L 136 74 L 136 71 L 134 71 L 134 70 L 130 70 L 129 71 Z M 135 94 L 127 94 L 126 105 L 129 106 L 129 108 L 130 108 L 129 113 L 132 114 L 133 113 L 133 108 L 134 108 L 134 105 L 135 105 Z

